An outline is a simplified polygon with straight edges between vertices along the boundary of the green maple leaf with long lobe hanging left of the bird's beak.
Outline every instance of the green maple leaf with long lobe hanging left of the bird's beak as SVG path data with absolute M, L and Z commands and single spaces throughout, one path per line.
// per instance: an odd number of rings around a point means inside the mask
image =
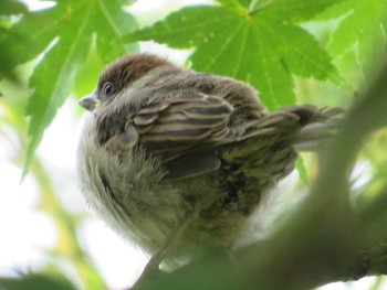
M 127 1 L 125 1 L 127 2 Z M 0 37 L 0 51 L 8 53 L 8 68 L 40 56 L 30 79 L 34 89 L 27 115 L 30 143 L 23 175 L 45 128 L 69 96 L 96 35 L 96 50 L 103 64 L 136 51 L 136 45 L 115 45 L 114 40 L 137 28 L 134 18 L 122 10 L 122 0 L 57 1 L 50 9 L 27 14 L 11 29 L 13 37 Z M 11 50 L 9 47 L 12 47 Z

